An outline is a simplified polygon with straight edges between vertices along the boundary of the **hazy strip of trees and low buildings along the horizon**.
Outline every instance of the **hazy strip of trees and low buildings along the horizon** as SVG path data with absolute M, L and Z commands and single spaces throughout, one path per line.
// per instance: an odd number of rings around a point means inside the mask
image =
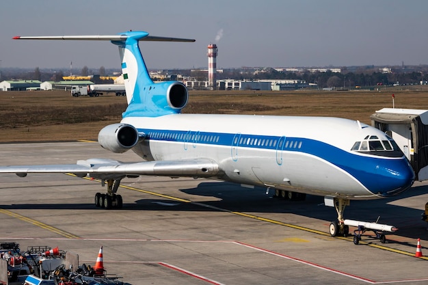
M 81 70 L 72 70 L 72 74 L 88 76 L 94 74 L 100 76 L 120 72 L 119 69 L 106 69 L 101 66 L 99 70 L 91 70 L 84 66 Z M 202 70 L 165 70 L 168 74 L 180 74 L 187 77 L 193 77 L 198 81 L 207 81 L 208 74 Z M 3 69 L 0 73 L 0 81 L 10 79 L 40 80 L 40 81 L 61 81 L 64 75 L 70 71 L 66 70 L 40 70 L 36 67 L 34 70 L 24 69 Z M 413 66 L 412 68 L 391 68 L 390 73 L 379 71 L 379 68 L 360 67 L 341 68 L 341 72 L 286 72 L 278 71 L 274 68 L 263 68 L 254 72 L 254 68 L 233 68 L 217 72 L 217 79 L 235 79 L 235 80 L 260 80 L 260 79 L 297 79 L 304 80 L 306 83 L 315 83 L 319 87 L 355 87 L 355 86 L 373 86 L 373 85 L 400 85 L 419 84 L 420 81 L 428 80 L 428 66 Z

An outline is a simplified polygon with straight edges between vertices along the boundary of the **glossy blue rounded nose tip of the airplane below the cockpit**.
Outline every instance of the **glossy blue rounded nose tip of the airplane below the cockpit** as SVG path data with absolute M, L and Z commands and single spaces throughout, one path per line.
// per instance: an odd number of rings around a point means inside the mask
M 412 187 L 415 174 L 412 166 L 403 158 L 401 160 L 388 161 L 388 163 L 377 165 L 377 176 L 379 177 L 379 191 L 377 195 L 389 197 Z

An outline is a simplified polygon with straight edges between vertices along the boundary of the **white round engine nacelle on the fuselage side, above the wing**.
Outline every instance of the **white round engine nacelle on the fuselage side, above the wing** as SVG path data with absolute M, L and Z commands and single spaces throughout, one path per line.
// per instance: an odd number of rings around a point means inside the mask
M 130 124 L 109 124 L 98 133 L 98 143 L 106 150 L 116 153 L 133 148 L 138 140 L 138 131 Z

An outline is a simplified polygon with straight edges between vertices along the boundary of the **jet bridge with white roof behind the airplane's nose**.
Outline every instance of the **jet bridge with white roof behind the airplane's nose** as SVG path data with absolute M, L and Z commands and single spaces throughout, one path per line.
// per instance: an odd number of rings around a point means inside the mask
M 370 116 L 371 125 L 397 142 L 410 161 L 416 180 L 428 179 L 428 110 L 384 108 Z

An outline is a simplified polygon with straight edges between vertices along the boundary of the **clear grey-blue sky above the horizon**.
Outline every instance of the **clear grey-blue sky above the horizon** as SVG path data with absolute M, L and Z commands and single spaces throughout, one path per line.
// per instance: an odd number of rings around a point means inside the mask
M 2 0 L 3 67 L 120 67 L 109 42 L 13 36 L 115 34 L 132 29 L 194 43 L 141 42 L 148 68 L 428 64 L 427 0 Z

